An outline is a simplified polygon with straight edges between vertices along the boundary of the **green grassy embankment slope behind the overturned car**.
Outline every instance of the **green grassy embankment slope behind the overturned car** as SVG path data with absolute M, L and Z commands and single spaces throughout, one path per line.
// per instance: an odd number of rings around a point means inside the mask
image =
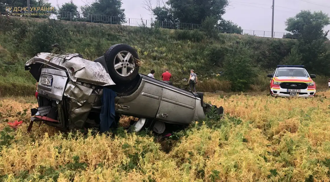
M 234 86 L 228 76 L 216 77 L 213 73 L 224 70 L 228 51 L 238 44 L 248 46 L 248 55 L 258 76 L 249 79 L 250 91 L 266 91 L 273 72 L 289 55 L 296 40 L 270 39 L 254 36 L 218 34 L 209 38 L 198 30 L 168 30 L 161 28 L 129 27 L 84 22 L 49 21 L 47 19 L 0 17 L 0 96 L 30 95 L 36 80 L 24 70 L 24 63 L 38 52 L 49 52 L 50 45 L 59 43 L 68 53 L 80 53 L 85 59 L 94 60 L 117 43 L 134 47 L 140 56 L 140 72 L 156 71 L 155 78 L 169 68 L 176 86 L 184 88 L 182 79 L 189 78 L 194 69 L 200 82 L 199 91 L 231 91 Z M 239 49 L 237 51 L 240 51 Z M 235 52 L 235 51 L 234 51 Z M 226 57 L 227 55 L 227 57 Z M 244 55 L 243 55 L 244 56 Z M 227 68 L 228 69 L 228 68 Z M 268 70 L 268 72 L 266 71 Z M 311 73 L 313 74 L 313 73 Z M 244 77 L 244 74 L 242 74 Z M 328 78 L 319 80 L 326 85 Z M 318 78 L 316 79 L 318 81 Z

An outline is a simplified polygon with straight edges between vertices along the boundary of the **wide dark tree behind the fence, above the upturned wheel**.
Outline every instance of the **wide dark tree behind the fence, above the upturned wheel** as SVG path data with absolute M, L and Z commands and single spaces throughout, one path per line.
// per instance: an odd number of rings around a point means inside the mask
M 121 5 L 121 0 L 96 0 L 91 5 L 81 8 L 82 15 L 85 19 L 95 23 L 125 23 L 125 9 L 121 9 Z

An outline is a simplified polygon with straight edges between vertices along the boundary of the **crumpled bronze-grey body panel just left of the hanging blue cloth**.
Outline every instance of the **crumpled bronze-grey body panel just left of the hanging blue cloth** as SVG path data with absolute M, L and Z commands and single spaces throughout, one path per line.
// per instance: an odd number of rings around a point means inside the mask
M 100 100 L 102 89 L 69 81 L 64 95 L 70 99 L 69 129 L 81 129 L 94 104 Z

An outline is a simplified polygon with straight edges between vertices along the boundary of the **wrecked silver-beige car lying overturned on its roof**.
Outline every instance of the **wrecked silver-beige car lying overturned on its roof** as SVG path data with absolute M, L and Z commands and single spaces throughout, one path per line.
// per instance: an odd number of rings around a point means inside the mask
M 116 128 L 120 115 L 140 118 L 133 125 L 163 133 L 166 127 L 185 127 L 200 121 L 210 108 L 203 93 L 186 91 L 138 73 L 139 56 L 127 44 L 111 46 L 94 61 L 81 54 L 39 53 L 26 62 L 38 83 L 34 121 L 68 131 Z

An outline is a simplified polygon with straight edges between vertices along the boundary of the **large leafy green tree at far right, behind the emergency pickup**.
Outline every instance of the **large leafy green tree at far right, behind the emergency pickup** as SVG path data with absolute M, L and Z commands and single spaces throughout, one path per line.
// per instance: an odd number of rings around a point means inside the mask
M 301 11 L 295 17 L 290 17 L 285 22 L 286 31 L 297 34 L 298 45 L 296 52 L 291 51 L 297 56 L 293 60 L 304 64 L 315 74 L 330 75 L 330 53 L 328 46 L 324 43 L 328 40 L 328 32 L 324 32 L 324 27 L 330 24 L 327 14 L 319 12 Z

